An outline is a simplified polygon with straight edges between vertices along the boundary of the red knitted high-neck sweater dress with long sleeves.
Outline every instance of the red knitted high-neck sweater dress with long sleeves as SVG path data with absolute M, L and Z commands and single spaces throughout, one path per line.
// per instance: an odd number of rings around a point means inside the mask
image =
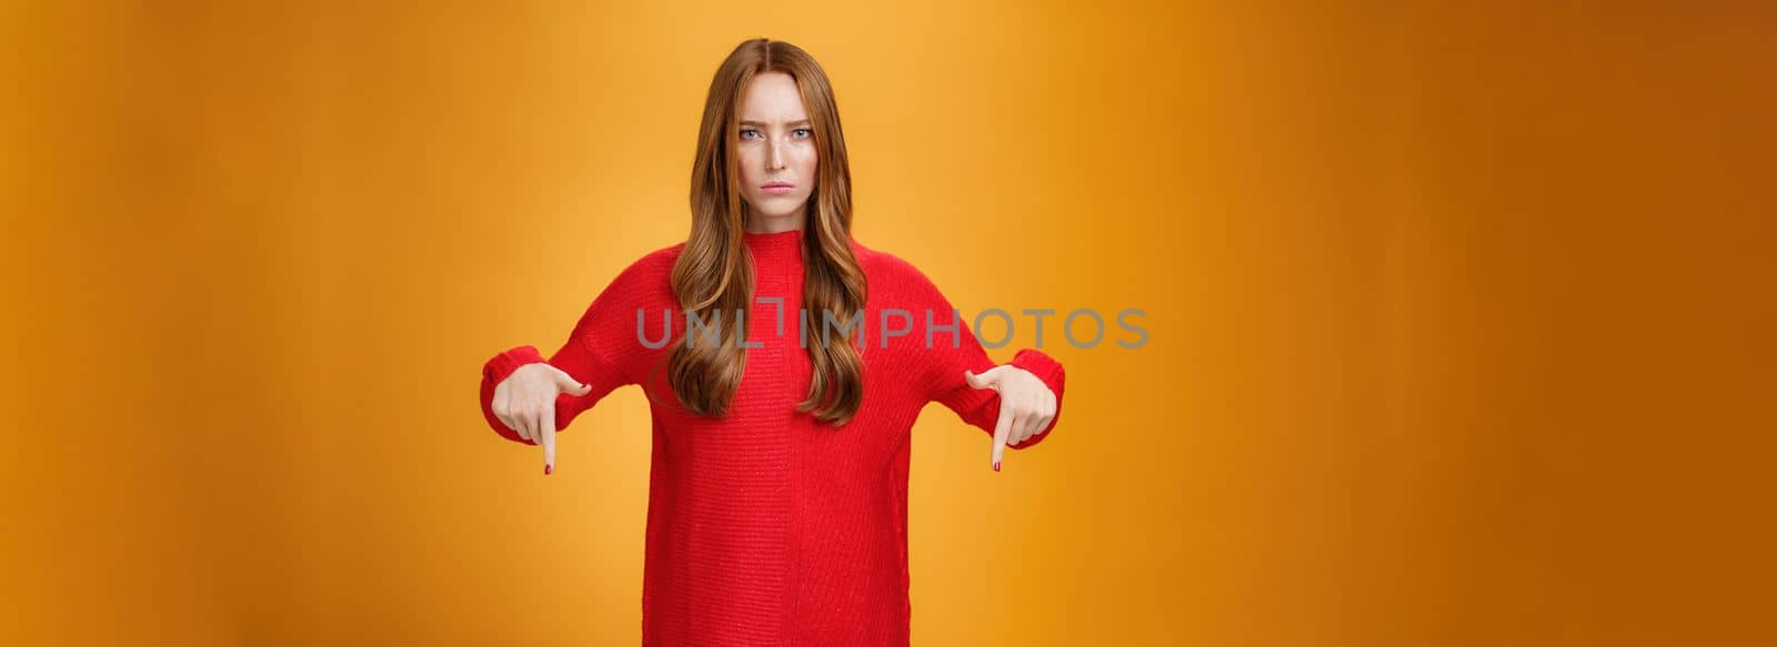
M 910 430 L 926 403 L 942 402 L 992 437 L 999 395 L 970 387 L 963 370 L 979 373 L 995 364 L 967 316 L 958 316 L 924 274 L 896 256 L 851 245 L 869 281 L 869 302 L 857 336 L 864 343 L 864 405 L 842 427 L 796 412 L 810 375 L 805 327 L 798 325 L 800 229 L 746 235 L 755 300 L 745 315 L 745 339 L 759 347 L 746 350 L 727 418 L 681 409 L 665 377 L 666 352 L 686 331 L 670 283 L 682 244 L 620 272 L 547 359 L 592 386 L 585 396 L 560 396 L 558 428 L 618 386 L 641 384 L 652 395 L 645 645 L 908 643 Z M 782 324 L 775 299 L 782 299 Z M 640 336 L 638 309 L 645 324 Z M 673 343 L 647 348 L 661 339 L 666 311 Z M 887 325 L 883 311 L 890 311 Z M 734 331 L 730 315 L 723 313 L 723 334 Z M 908 332 L 885 334 L 890 331 Z M 817 327 L 805 332 L 810 343 L 821 334 Z M 489 359 L 482 371 L 482 412 L 506 439 L 524 443 L 492 414 L 494 386 L 538 361 L 546 359 L 535 347 L 517 347 Z M 1011 364 L 1048 384 L 1059 419 L 1061 364 L 1034 348 L 1020 350 Z

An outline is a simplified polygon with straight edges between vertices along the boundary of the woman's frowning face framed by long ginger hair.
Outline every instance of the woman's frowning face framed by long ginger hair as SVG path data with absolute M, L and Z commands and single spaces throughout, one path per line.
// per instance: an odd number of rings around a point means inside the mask
M 773 71 L 753 76 L 741 98 L 736 132 L 741 197 L 753 217 L 793 229 L 801 224 L 814 194 L 814 124 L 801 108 L 796 80 Z M 766 226 L 753 222 L 752 228 Z

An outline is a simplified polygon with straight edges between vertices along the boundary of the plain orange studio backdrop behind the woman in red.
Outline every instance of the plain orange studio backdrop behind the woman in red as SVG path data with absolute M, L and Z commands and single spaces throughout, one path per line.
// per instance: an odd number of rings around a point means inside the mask
M 860 240 L 1148 311 L 1000 475 L 926 411 L 915 643 L 1777 640 L 1770 9 L 357 5 L 4 11 L 0 642 L 636 643 L 641 395 L 542 478 L 476 379 L 682 238 L 753 36 Z

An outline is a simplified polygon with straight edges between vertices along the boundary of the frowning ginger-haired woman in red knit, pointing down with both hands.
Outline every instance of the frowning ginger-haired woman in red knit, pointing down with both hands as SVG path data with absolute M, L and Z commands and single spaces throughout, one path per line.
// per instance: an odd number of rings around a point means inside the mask
M 753 39 L 709 85 L 689 238 L 620 272 L 547 361 L 494 355 L 482 409 L 549 475 L 562 427 L 645 389 L 643 643 L 906 645 L 915 416 L 936 400 L 992 432 L 999 471 L 1047 437 L 1063 379 L 1032 348 L 993 366 L 926 276 L 851 238 L 826 75 Z

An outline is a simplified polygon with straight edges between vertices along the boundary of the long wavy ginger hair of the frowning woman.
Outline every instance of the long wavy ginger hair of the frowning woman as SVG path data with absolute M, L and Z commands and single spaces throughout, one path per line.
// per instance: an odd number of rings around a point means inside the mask
M 814 371 L 809 393 L 796 409 L 839 427 L 864 402 L 864 363 L 851 339 L 855 332 L 823 339 L 821 313 L 849 322 L 864 309 L 867 284 L 851 252 L 851 165 L 833 89 L 821 66 L 801 48 L 752 39 L 734 48 L 716 69 L 691 165 L 691 235 L 673 265 L 672 288 L 684 313 L 695 313 L 704 322 L 720 316 L 721 327 L 732 327 L 737 311 L 753 309 L 753 265 L 743 238 L 750 208 L 741 197 L 734 148 L 739 144 L 739 103 L 746 87 L 753 76 L 773 71 L 796 80 L 817 155 L 801 233 L 803 325 L 810 331 L 807 352 Z M 720 334 L 716 345 L 693 343 L 686 327 L 666 361 L 668 382 L 686 409 L 727 416 L 746 368 L 746 348 L 739 347 L 743 336 L 745 331 L 736 331 Z

